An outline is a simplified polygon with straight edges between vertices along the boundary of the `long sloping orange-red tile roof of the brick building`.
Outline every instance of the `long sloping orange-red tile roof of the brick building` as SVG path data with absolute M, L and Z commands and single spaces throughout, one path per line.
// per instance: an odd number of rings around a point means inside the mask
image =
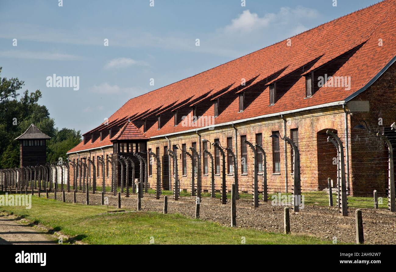
M 310 68 L 314 70 L 362 44 L 358 51 L 333 75 L 350 76 L 350 90 L 346 91 L 344 87 L 322 87 L 311 98 L 304 99 L 305 79 L 301 76 L 301 79 L 273 106 L 269 106 L 268 86 L 263 87 L 264 91 L 238 114 L 236 114 L 238 112 L 236 96 L 235 100 L 215 118 L 215 124 L 343 101 L 366 86 L 395 57 L 395 17 L 396 0 L 379 2 L 293 36 L 290 38 L 291 46 L 287 46 L 288 40 L 284 40 L 195 76 L 129 99 L 124 106 L 110 116 L 109 123 L 117 119 L 126 118 L 127 120 L 128 117 L 131 117 L 132 121 L 136 118 L 141 119 L 143 115 L 156 114 L 172 104 L 170 110 L 178 108 L 181 104 L 194 105 L 198 101 L 203 102 L 216 97 L 221 91 L 224 92 L 222 94 L 226 94 L 235 89 L 240 90 L 242 78 L 249 81 L 258 76 L 246 88 L 248 89 L 256 83 L 268 80 L 268 77 L 273 76 L 277 71 L 281 73 L 271 80 L 282 78 L 318 58 Z M 383 41 L 382 46 L 379 46 L 379 39 Z M 228 86 L 231 87 L 224 91 Z M 212 116 L 213 107 L 202 114 L 204 115 Z M 192 129 L 183 127 L 181 124 L 174 127 L 173 118 L 161 125 L 160 130 L 152 126 L 145 132 L 145 135 L 150 138 Z M 111 144 L 109 139 L 102 142 L 96 140 L 90 145 L 91 147 L 80 143 L 69 153 L 108 144 Z

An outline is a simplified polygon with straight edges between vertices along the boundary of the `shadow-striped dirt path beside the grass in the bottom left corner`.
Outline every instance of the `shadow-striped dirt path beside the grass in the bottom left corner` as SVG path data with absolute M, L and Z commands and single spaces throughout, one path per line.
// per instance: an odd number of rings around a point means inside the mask
M 15 216 L 0 214 L 0 245 L 56 244 L 49 234 L 29 227 Z

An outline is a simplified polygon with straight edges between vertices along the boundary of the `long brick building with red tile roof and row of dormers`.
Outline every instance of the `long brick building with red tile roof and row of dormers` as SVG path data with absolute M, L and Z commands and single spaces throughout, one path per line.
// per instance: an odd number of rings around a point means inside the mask
M 207 149 L 213 155 L 215 187 L 220 190 L 222 156 L 210 145 L 218 142 L 232 148 L 238 158 L 234 169 L 232 157 L 225 154 L 227 191 L 236 174 L 239 191 L 251 193 L 253 151 L 244 144 L 247 140 L 261 144 L 266 152 L 268 189 L 290 191 L 293 153 L 281 138 L 270 138 L 277 133 L 299 148 L 302 191 L 320 191 L 327 187 L 328 177 L 337 175 L 333 164 L 337 152 L 327 142 L 330 129 L 343 141 L 349 192 L 359 195 L 377 189 L 383 193 L 388 179 L 387 163 L 381 160 L 388 156 L 384 143 L 351 128 L 366 120 L 370 127 L 392 133 L 388 127 L 396 121 L 395 15 L 396 1 L 385 0 L 132 98 L 108 121 L 86 132 L 84 140 L 68 152 L 69 159 L 90 157 L 101 179 L 97 156 L 124 155 L 135 160 L 135 178 L 139 178 L 139 161 L 131 153 L 152 161 L 147 154 L 152 151 L 161 160 L 162 187 L 172 189 L 171 149 L 177 153 L 181 189 L 191 191 L 192 160 L 182 150 L 192 154 L 189 149 L 195 147 L 200 154 L 202 190 L 208 191 L 211 161 L 203 153 Z M 263 175 L 262 162 L 260 156 L 259 175 Z M 119 168 L 118 163 L 118 182 Z M 110 185 L 109 163 L 105 175 Z M 144 175 L 155 187 L 156 164 L 148 164 Z

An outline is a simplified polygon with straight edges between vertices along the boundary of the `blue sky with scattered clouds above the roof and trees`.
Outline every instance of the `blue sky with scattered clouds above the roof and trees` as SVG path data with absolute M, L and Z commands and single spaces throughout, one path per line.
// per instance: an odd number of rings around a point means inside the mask
M 129 98 L 236 59 L 373 0 L 0 0 L 2 77 L 42 91 L 56 126 L 96 127 Z M 17 39 L 17 46 L 13 46 Z M 109 39 L 109 46 L 104 46 Z M 200 46 L 196 46 L 200 39 Z M 80 89 L 47 77 L 79 76 Z M 154 86 L 150 86 L 150 79 Z M 150 101 L 147 101 L 150 103 Z

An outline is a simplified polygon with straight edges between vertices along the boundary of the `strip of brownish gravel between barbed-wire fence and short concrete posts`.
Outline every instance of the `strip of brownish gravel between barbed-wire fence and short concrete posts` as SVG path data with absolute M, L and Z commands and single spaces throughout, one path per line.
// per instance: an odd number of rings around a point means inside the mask
M 44 195 L 42 195 L 45 197 Z M 86 203 L 85 193 L 77 193 L 78 203 Z M 117 206 L 117 196 L 106 194 L 110 206 Z M 145 195 L 142 198 L 142 210 L 151 212 L 162 212 L 164 196 L 156 200 L 154 195 Z M 49 193 L 49 198 L 53 198 L 53 193 Z M 62 199 L 62 193 L 57 193 L 57 199 Z M 73 201 L 73 193 L 66 193 L 66 201 Z M 137 196 L 131 195 L 129 198 L 122 196 L 122 208 L 137 208 Z M 100 205 L 101 194 L 89 194 L 89 204 Z M 259 208 L 254 209 L 252 201 L 238 200 L 236 206 L 236 221 L 238 227 L 265 230 L 267 232 L 283 232 L 283 208 L 282 206 L 271 206 L 271 202 L 260 201 Z M 203 198 L 200 206 L 200 219 L 217 222 L 221 225 L 230 226 L 230 204 L 221 204 L 220 200 Z M 396 228 L 384 227 L 377 223 L 372 223 L 372 219 L 380 221 L 396 221 L 393 213 L 362 209 L 365 244 L 396 244 Z M 179 213 L 188 217 L 195 216 L 194 198 L 184 197 L 180 201 L 174 201 L 172 196 L 168 196 L 168 213 Z M 335 208 L 323 206 L 305 206 L 302 212 L 290 214 L 291 231 L 297 234 L 306 234 L 333 240 L 337 242 L 355 243 L 355 219 L 354 209 L 349 210 L 348 217 L 339 216 Z

